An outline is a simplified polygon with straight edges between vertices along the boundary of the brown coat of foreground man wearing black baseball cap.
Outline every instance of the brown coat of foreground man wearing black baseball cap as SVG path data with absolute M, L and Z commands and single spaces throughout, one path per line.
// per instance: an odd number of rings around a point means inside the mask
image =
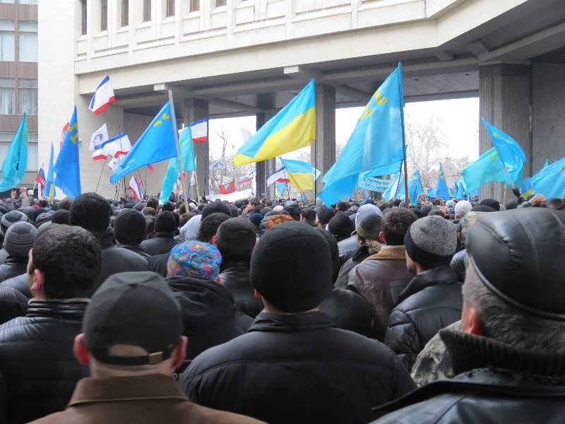
M 76 385 L 65 411 L 32 424 L 260 424 L 254 418 L 194 404 L 171 377 L 89 377 Z

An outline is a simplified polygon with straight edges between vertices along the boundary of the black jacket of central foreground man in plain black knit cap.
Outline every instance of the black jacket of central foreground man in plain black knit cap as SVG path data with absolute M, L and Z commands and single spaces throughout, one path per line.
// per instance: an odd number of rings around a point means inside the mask
M 197 404 L 277 423 L 367 423 L 415 384 L 378 341 L 322 312 L 261 312 L 243 336 L 198 356 L 180 383 Z

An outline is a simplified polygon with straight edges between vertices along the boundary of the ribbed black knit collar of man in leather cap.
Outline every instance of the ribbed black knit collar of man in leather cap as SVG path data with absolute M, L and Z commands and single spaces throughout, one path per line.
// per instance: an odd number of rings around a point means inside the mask
M 439 331 L 456 373 L 495 367 L 534 375 L 565 377 L 565 355 L 525 351 L 493 338 L 452 329 Z

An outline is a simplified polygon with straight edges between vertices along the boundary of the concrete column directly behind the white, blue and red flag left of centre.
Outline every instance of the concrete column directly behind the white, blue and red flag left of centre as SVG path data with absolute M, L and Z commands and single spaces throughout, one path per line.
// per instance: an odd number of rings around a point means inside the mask
M 183 103 L 184 124 L 199 119 L 208 119 L 208 102 L 201 99 L 184 99 Z M 208 125 L 206 131 L 209 133 Z M 198 191 L 200 196 L 208 194 L 210 177 L 210 141 L 206 143 L 194 143 L 194 154 L 196 155 L 196 178 L 198 179 Z

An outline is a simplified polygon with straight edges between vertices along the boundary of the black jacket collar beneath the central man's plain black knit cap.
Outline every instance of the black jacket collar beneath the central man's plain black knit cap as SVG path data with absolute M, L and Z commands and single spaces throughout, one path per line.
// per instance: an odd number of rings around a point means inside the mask
M 327 329 L 333 322 L 323 312 L 304 312 L 302 314 L 280 315 L 261 312 L 258 314 L 248 333 L 251 331 L 305 331 Z

